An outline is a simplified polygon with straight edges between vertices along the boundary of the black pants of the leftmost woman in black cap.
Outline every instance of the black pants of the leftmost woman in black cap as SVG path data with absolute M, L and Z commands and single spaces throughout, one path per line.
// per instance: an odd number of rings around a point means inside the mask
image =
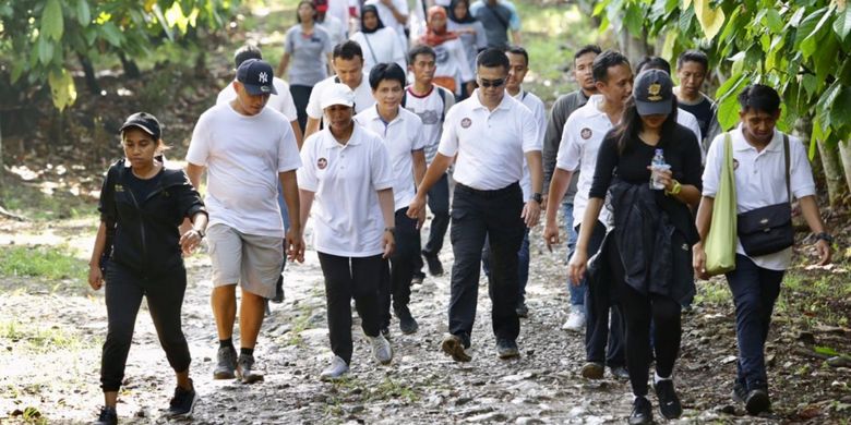
M 147 309 L 154 320 L 159 344 L 166 351 L 168 364 L 176 372 L 187 371 L 192 357 L 180 323 L 180 309 L 187 291 L 187 270 L 181 266 L 157 278 L 142 278 L 110 262 L 106 275 L 109 325 L 100 359 L 100 388 L 104 392 L 121 388 L 143 296 L 147 299 Z

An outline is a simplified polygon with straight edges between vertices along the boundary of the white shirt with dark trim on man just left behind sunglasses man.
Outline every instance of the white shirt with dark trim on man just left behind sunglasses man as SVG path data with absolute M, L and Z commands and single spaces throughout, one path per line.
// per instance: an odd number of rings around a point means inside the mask
M 425 162 L 431 163 L 438 155 L 441 143 L 443 121 L 446 112 L 455 105 L 452 92 L 432 84 L 432 89 L 425 96 L 417 96 L 413 86 L 406 87 L 405 109 L 413 112 L 422 120 L 422 134 L 425 144 Z M 443 93 L 443 97 L 441 97 Z

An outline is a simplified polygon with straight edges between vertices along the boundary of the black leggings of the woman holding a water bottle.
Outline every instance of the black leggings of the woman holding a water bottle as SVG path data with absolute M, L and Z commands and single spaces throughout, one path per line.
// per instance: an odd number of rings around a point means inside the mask
M 609 262 L 626 323 L 626 368 L 633 394 L 647 396 L 648 367 L 650 366 L 650 320 L 654 321 L 654 348 L 656 373 L 662 377 L 673 374 L 680 354 L 682 328 L 680 303 L 655 293 L 642 293 L 624 282 L 624 270 L 614 244 L 610 245 Z

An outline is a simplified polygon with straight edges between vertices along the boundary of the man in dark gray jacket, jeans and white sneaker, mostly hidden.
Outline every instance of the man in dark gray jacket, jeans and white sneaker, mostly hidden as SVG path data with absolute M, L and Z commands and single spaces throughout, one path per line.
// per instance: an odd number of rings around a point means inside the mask
M 564 123 L 573 111 L 582 108 L 588 102 L 591 95 L 597 94 L 597 87 L 594 85 L 594 75 L 591 65 L 597 54 L 600 54 L 600 47 L 588 45 L 577 50 L 573 57 L 573 73 L 576 77 L 576 84 L 579 89 L 559 97 L 552 106 L 550 119 L 547 121 L 547 130 L 543 135 L 543 193 L 550 191 L 550 180 L 555 170 L 555 157 L 559 154 L 559 145 L 562 142 L 562 132 Z M 567 232 L 567 259 L 573 255 L 576 246 L 576 230 L 573 227 L 573 198 L 576 195 L 576 182 L 578 172 L 574 173 L 571 180 L 571 186 L 564 195 L 562 210 L 564 211 L 565 231 Z M 571 313 L 562 329 L 578 332 L 585 329 L 585 293 L 587 283 L 573 286 L 567 282 L 567 291 L 571 293 Z

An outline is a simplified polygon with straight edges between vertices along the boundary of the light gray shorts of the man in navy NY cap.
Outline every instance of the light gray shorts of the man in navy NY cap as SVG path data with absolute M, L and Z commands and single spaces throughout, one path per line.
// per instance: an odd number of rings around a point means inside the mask
M 245 234 L 227 224 L 207 229 L 213 287 L 239 283 L 243 291 L 271 299 L 284 267 L 284 239 Z

